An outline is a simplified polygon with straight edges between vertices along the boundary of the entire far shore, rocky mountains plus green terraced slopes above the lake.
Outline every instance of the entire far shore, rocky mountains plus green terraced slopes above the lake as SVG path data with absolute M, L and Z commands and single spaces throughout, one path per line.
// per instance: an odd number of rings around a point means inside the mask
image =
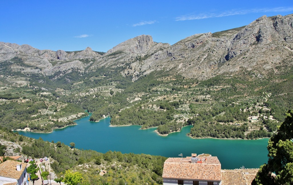
M 263 16 L 172 46 L 140 35 L 106 53 L 1 42 L 0 123 L 52 132 L 88 110 L 91 121 L 159 134 L 193 125 L 194 138 L 270 137 L 292 108 L 292 19 Z

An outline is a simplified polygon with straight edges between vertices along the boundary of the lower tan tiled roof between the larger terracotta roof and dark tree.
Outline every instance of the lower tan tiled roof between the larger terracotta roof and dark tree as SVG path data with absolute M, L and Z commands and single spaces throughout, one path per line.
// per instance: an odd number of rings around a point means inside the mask
M 258 168 L 222 170 L 222 185 L 251 184 L 258 170 Z

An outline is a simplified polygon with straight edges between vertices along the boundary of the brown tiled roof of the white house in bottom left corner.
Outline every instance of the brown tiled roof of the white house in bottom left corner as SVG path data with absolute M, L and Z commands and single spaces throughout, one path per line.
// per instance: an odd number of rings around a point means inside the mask
M 20 165 L 20 164 L 22 166 L 21 171 L 17 171 L 16 165 Z M 0 176 L 13 178 L 13 179 L 19 179 L 26 165 L 27 165 L 26 163 L 13 161 L 13 160 L 7 160 L 5 162 L 2 162 L 0 164 Z

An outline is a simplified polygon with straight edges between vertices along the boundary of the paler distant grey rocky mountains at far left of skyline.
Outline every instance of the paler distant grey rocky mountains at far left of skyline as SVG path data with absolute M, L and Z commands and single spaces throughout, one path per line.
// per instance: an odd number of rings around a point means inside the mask
M 58 78 L 66 73 L 84 72 L 90 60 L 100 58 L 101 55 L 87 47 L 83 51 L 66 52 L 63 50 L 39 50 L 27 44 L 18 45 L 0 42 L 0 65 L 8 65 L 13 72 L 25 74 L 42 74 Z M 19 59 L 18 62 L 11 59 Z M 81 62 L 86 60 L 86 62 Z M 7 67 L 6 67 L 7 68 Z M 58 75 L 56 75 L 58 74 Z

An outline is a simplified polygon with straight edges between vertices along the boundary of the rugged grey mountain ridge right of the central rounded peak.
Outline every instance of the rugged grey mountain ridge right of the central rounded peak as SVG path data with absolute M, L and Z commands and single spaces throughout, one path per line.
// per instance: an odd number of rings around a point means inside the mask
M 195 34 L 133 62 L 131 72 L 173 70 L 185 77 L 207 79 L 241 69 L 261 73 L 276 65 L 292 65 L 292 21 L 293 15 L 263 16 L 244 27 Z

